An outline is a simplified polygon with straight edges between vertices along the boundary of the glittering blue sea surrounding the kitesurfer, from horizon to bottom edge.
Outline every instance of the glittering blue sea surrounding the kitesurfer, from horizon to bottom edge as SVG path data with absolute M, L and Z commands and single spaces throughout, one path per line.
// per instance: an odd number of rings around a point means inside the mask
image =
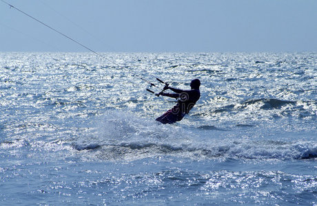
M 0 53 L 0 205 L 317 205 L 316 53 L 102 55 Z

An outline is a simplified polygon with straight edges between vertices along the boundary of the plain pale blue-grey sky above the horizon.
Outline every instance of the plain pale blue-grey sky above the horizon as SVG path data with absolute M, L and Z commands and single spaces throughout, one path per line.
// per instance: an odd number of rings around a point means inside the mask
M 316 0 L 3 0 L 96 52 L 317 52 Z M 0 52 L 89 52 L 0 1 Z

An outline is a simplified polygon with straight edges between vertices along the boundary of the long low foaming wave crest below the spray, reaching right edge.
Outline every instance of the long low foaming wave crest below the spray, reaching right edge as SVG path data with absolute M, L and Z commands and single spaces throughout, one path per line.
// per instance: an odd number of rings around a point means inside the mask
M 75 146 L 76 150 L 96 150 L 98 158 L 105 160 L 136 160 L 148 157 L 170 155 L 190 159 L 258 159 L 258 160 L 290 160 L 316 159 L 317 144 L 304 141 L 301 143 L 287 143 L 274 141 L 249 142 L 221 142 L 215 146 L 172 146 L 170 144 L 125 142 L 114 144 L 91 144 Z M 90 153 L 90 155 L 92 155 Z

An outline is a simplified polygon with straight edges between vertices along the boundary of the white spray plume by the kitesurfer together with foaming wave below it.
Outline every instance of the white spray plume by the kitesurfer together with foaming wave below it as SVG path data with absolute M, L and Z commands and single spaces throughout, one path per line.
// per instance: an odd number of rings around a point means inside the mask
M 212 138 L 214 126 L 192 130 L 162 125 L 131 113 L 108 113 L 97 137 L 78 139 L 75 150 L 105 160 L 136 160 L 162 155 L 190 159 L 316 159 L 316 141 L 255 141 Z M 209 131 L 210 130 L 210 131 Z M 201 139 L 201 132 L 208 139 Z

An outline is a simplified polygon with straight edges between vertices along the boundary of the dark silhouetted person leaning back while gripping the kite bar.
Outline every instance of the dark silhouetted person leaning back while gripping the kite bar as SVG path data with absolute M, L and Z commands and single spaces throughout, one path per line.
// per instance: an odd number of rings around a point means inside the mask
M 164 93 L 162 91 L 159 93 L 159 95 L 170 98 L 178 98 L 178 101 L 173 108 L 164 113 L 161 117 L 156 118 L 156 121 L 159 121 L 163 124 L 173 124 L 175 122 L 181 121 L 183 117 L 190 112 L 199 98 L 201 98 L 201 92 L 199 91 L 200 86 L 201 81 L 198 79 L 194 79 L 192 82 L 190 82 L 191 90 L 181 90 L 165 86 L 164 90 L 170 89 L 175 93 Z

